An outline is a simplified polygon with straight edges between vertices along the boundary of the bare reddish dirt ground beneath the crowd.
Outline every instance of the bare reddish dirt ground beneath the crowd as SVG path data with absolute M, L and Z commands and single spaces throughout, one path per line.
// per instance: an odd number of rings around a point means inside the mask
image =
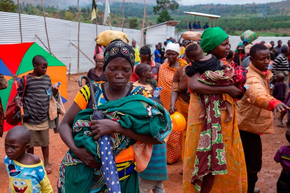
M 75 75 L 78 78 L 77 75 Z M 77 82 L 73 79 L 68 81 L 68 99 L 69 101 L 65 104 L 66 110 L 68 110 L 70 104 L 77 92 L 79 91 L 79 86 Z M 275 122 L 276 125 L 276 122 Z M 274 156 L 278 148 L 282 145 L 289 145 L 285 138 L 285 128 L 274 127 L 275 134 L 268 134 L 261 136 L 263 144 L 263 165 L 262 170 L 258 174 L 259 180 L 256 187 L 261 189 L 261 192 L 272 193 L 276 191 L 276 182 L 280 176 L 281 165 L 274 161 Z M 6 133 L 3 134 L 3 138 L 0 138 L 0 161 L 4 159 L 4 139 Z M 61 140 L 59 134 L 54 134 L 53 130 L 50 130 L 50 163 L 52 174 L 48 175 L 54 192 L 57 192 L 57 180 L 59 178 L 59 165 L 64 157 L 64 154 L 68 150 L 67 146 Z M 43 156 L 41 153 L 41 148 L 35 148 L 35 154 L 38 155 L 42 160 Z M 182 192 L 182 175 L 179 172 L 182 170 L 182 161 L 179 160 L 173 165 L 168 165 L 168 177 L 169 180 L 164 182 L 164 188 L 166 192 L 170 193 L 180 193 Z M 8 176 L 5 169 L 4 163 L 0 163 L 0 192 L 9 192 L 9 182 Z

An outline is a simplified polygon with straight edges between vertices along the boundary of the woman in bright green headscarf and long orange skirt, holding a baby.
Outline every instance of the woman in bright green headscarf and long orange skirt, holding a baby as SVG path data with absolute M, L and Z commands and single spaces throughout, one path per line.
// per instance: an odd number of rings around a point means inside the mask
M 229 36 L 219 27 L 208 28 L 201 36 L 200 46 L 204 52 L 213 54 L 218 59 L 226 58 L 229 54 Z M 188 111 L 188 125 L 185 141 L 185 155 L 183 164 L 183 184 L 184 193 L 192 192 L 247 192 L 247 169 L 244 151 L 237 126 L 236 105 L 233 98 L 238 97 L 241 91 L 235 86 L 210 86 L 198 81 L 200 73 L 195 73 L 189 77 L 190 103 Z M 226 172 L 224 174 L 212 175 L 209 173 L 203 177 L 201 185 L 193 184 L 193 173 L 198 168 L 195 167 L 197 145 L 202 130 L 203 120 L 199 116 L 203 114 L 198 94 L 227 94 L 223 100 L 232 104 L 233 119 L 224 123 L 228 114 L 226 110 L 221 110 L 221 130 L 222 141 L 225 153 L 221 155 L 226 161 Z M 206 144 L 204 144 L 206 145 Z M 222 159 L 221 158 L 221 159 Z M 211 167 L 211 158 L 202 161 L 204 165 Z M 214 172 L 213 172 L 214 173 Z M 215 172 L 216 174 L 218 172 Z

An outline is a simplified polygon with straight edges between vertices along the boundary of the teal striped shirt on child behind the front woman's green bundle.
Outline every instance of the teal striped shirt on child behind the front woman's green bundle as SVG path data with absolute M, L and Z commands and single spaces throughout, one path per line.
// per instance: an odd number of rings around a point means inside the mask
M 148 166 L 143 172 L 138 173 L 138 175 L 145 180 L 168 180 L 165 143 L 153 145 L 152 155 Z

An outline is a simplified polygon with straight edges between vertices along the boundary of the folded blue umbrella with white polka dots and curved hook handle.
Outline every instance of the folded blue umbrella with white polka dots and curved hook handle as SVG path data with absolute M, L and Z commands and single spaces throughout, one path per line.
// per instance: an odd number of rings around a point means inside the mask
M 104 113 L 101 110 L 97 110 L 97 100 L 95 97 L 95 92 L 93 90 L 93 85 L 91 80 L 84 75 L 81 75 L 79 77 L 79 86 L 82 86 L 81 80 L 85 79 L 89 85 L 90 85 L 90 96 L 93 100 L 93 115 L 92 120 L 100 120 L 104 119 Z M 117 165 L 115 162 L 115 156 L 113 154 L 110 135 L 104 135 L 102 136 L 99 141 L 99 152 L 101 160 L 102 160 L 102 169 L 104 172 L 106 184 L 108 187 L 109 193 L 121 193 L 121 187 L 120 187 L 120 181 L 119 181 L 119 175 L 117 171 Z M 96 150 L 97 151 L 97 150 Z

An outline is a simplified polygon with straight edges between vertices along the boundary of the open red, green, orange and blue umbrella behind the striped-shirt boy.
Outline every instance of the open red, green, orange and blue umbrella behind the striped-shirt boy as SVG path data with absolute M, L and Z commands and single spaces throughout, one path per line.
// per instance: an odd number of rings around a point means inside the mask
M 68 99 L 66 85 L 66 65 L 61 63 L 35 42 L 0 45 L 0 73 L 8 80 L 9 86 L 0 90 L 4 112 L 7 104 L 17 93 L 18 80 L 33 71 L 32 59 L 36 55 L 43 56 L 48 61 L 46 74 L 49 75 L 52 85 L 61 82 L 59 91 L 65 103 Z M 12 128 L 6 121 L 4 131 Z

